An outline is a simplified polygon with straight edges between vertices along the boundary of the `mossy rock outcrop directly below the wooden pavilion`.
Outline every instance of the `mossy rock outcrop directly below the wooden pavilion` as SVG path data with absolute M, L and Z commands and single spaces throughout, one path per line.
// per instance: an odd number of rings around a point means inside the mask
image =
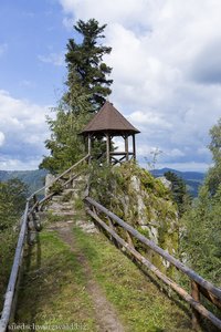
M 138 221 L 138 196 L 144 199 L 147 222 L 151 218 L 176 219 L 176 207 L 170 191 L 154 176 L 136 163 L 125 163 L 120 167 L 92 165 L 92 196 L 135 226 Z M 154 217 L 156 209 L 157 216 Z M 139 216 L 141 218 L 141 216 Z

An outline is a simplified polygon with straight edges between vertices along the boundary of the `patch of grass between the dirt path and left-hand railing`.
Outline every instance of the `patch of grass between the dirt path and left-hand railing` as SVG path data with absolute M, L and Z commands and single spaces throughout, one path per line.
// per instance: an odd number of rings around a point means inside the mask
M 74 253 L 55 232 L 42 231 L 38 245 L 28 252 L 18 303 L 17 324 L 75 324 L 96 331 L 85 276 Z

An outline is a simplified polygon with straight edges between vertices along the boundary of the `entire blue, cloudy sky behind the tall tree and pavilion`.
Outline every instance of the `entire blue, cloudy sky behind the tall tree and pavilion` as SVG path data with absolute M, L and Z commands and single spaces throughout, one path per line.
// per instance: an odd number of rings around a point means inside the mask
M 109 101 L 136 126 L 143 166 L 204 172 L 221 117 L 220 0 L 0 0 L 0 169 L 36 169 L 65 91 L 73 24 L 106 23 Z

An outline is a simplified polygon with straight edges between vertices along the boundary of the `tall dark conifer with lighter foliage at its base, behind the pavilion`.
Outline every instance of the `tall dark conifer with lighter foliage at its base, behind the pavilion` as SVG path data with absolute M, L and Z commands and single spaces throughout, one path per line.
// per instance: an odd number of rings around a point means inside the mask
M 106 77 L 112 69 L 103 62 L 103 56 L 112 49 L 98 44 L 98 39 L 104 38 L 105 27 L 99 27 L 94 19 L 80 20 L 74 29 L 81 34 L 82 43 L 69 40 L 65 55 L 67 91 L 54 108 L 55 120 L 48 118 L 51 137 L 45 146 L 51 154 L 40 164 L 40 168 L 53 174 L 69 168 L 85 155 L 84 142 L 78 134 L 112 92 L 109 85 L 113 81 Z

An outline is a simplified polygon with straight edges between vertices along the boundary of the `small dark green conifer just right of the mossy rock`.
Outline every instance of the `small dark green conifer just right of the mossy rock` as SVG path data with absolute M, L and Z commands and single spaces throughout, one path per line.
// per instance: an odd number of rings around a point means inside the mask
M 187 191 L 185 180 L 172 172 L 166 172 L 165 177 L 171 183 L 172 199 L 178 206 L 181 216 L 190 206 L 191 197 Z

